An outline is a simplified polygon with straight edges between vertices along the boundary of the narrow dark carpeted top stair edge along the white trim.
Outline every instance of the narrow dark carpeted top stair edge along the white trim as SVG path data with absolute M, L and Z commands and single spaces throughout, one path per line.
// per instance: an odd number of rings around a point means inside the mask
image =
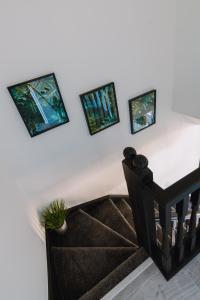
M 122 264 L 102 279 L 96 286 L 86 292 L 79 300 L 99 300 L 114 288 L 121 280 L 128 276 L 148 258 L 143 248 L 129 256 Z

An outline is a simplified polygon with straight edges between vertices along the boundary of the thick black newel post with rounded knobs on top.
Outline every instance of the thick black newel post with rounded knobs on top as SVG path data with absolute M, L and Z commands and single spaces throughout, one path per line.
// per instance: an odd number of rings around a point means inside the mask
M 139 246 L 151 255 L 156 239 L 154 201 L 149 193 L 153 173 L 148 160 L 135 149 L 124 149 L 122 162 Z

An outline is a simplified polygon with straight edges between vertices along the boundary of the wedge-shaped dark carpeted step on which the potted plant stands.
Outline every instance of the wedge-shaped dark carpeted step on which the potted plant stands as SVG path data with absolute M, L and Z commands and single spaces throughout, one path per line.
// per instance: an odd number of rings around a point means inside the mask
M 133 247 L 134 245 L 100 221 L 79 209 L 67 218 L 65 234 L 51 233 L 57 247 Z

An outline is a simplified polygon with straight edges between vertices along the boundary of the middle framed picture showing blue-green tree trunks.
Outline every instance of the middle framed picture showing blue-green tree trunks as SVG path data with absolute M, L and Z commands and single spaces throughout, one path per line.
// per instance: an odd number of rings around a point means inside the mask
M 119 112 L 113 82 L 80 95 L 91 135 L 119 123 Z

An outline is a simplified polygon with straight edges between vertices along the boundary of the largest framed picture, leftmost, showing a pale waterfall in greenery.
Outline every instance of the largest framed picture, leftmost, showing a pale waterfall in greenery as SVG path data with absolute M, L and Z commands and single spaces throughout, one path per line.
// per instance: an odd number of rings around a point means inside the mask
M 31 137 L 69 122 L 54 73 L 8 90 Z

